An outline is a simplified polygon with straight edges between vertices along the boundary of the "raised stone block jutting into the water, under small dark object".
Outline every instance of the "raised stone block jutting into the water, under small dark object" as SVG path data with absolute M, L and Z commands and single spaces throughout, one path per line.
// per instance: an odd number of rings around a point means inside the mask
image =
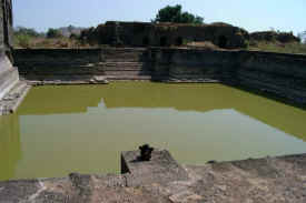
M 155 150 L 150 161 L 139 161 L 140 151 L 121 153 L 121 173 L 126 175 L 128 186 L 158 183 L 167 185 L 174 181 L 187 181 L 188 173 L 167 150 Z

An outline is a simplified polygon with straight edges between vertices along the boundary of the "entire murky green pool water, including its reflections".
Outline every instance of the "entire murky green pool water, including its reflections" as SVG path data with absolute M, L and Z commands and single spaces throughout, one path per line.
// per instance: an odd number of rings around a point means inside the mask
M 33 88 L 0 116 L 0 180 L 119 172 L 150 143 L 180 163 L 306 152 L 306 111 L 220 84 Z

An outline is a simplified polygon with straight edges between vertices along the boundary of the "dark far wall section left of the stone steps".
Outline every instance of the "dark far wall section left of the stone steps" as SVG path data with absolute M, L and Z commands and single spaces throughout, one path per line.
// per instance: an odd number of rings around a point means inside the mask
M 28 80 L 102 74 L 98 49 L 20 49 L 13 51 L 13 58 L 20 75 Z

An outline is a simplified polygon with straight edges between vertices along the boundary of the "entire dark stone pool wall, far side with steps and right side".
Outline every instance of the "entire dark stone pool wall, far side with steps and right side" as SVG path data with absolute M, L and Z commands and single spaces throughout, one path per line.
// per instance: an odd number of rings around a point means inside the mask
M 224 82 L 306 104 L 306 55 L 200 49 L 14 50 L 27 80 L 149 75 L 167 82 Z

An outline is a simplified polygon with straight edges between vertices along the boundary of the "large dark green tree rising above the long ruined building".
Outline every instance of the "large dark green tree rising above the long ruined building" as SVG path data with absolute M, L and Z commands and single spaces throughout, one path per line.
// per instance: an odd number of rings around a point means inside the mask
M 159 22 L 175 22 L 175 23 L 195 23 L 203 24 L 204 18 L 194 16 L 189 12 L 182 12 L 181 6 L 167 6 L 158 11 L 155 20 L 156 23 Z

